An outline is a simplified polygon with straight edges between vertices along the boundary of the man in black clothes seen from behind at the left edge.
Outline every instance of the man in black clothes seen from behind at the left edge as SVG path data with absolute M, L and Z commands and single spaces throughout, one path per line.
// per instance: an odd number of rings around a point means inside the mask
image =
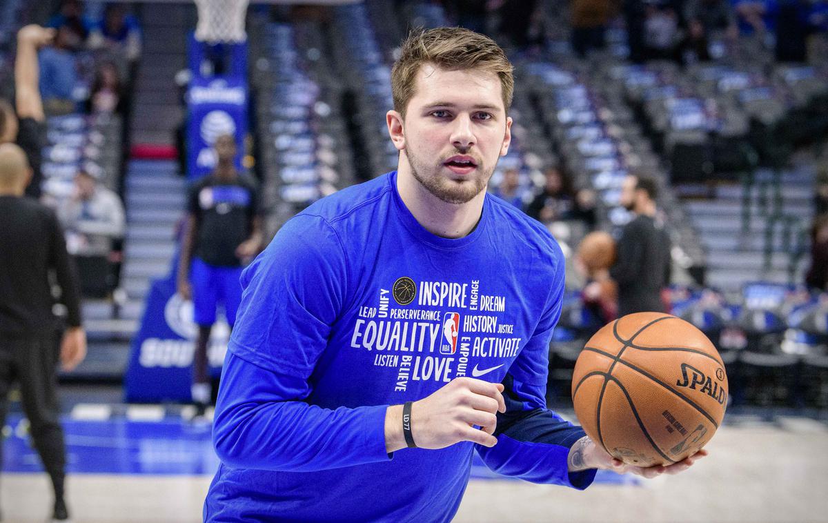
M 68 519 L 64 501 L 65 445 L 56 397 L 58 359 L 66 370 L 86 355 L 79 284 L 57 217 L 24 198 L 31 169 L 12 143 L 0 145 L 0 427 L 6 401 L 19 382 L 31 438 L 55 489 L 54 519 Z M 50 272 L 60 285 L 67 329 L 56 354 Z

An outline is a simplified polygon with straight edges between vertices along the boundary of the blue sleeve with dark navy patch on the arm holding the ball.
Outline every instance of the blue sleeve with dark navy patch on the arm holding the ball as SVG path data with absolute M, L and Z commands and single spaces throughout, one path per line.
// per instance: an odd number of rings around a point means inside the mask
M 561 317 L 564 292 L 560 250 L 556 259 L 558 267 L 546 312 L 503 380 L 506 412 L 498 413 L 494 433 L 498 444 L 492 448 L 476 445 L 476 449 L 486 466 L 496 473 L 583 490 L 593 482 L 596 471 L 570 473 L 568 458 L 572 445 L 586 433 L 546 409 L 549 343 Z

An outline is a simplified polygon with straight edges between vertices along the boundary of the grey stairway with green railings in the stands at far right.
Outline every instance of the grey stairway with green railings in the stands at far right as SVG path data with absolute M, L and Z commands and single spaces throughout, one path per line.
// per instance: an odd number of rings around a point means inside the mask
M 698 230 L 707 252 L 706 285 L 720 290 L 740 290 L 749 281 L 799 283 L 806 270 L 807 246 L 797 241 L 813 218 L 814 173 L 812 166 L 797 166 L 782 171 L 780 209 L 793 223 L 791 242 L 786 243 L 782 222 L 774 221 L 767 265 L 768 209 L 772 207 L 772 190 L 760 185 L 750 188 L 748 228 L 743 230 L 743 185 L 719 185 L 713 198 L 686 199 L 685 209 Z M 770 180 L 770 170 L 758 170 L 755 179 Z M 690 189 L 690 190 L 688 190 Z M 691 193 L 683 186 L 679 193 Z M 797 257 L 797 247 L 802 256 Z M 804 251 L 804 252 L 803 252 Z M 792 270 L 792 256 L 795 264 Z

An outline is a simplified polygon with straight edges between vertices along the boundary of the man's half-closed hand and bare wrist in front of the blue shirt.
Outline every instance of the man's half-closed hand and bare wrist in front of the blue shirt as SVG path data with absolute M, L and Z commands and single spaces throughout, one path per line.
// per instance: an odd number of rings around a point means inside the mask
M 470 377 L 455 378 L 412 404 L 412 438 L 421 449 L 443 449 L 460 441 L 493 447 L 498 443 L 492 435 L 498 411 L 506 412 L 503 385 Z M 385 441 L 389 453 L 406 447 L 402 405 L 388 407 Z

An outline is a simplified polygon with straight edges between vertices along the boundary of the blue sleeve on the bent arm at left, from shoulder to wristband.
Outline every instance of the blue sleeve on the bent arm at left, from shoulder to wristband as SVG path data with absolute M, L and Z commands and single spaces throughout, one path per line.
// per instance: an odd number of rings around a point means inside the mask
M 323 218 L 300 214 L 242 274 L 213 437 L 229 466 L 310 472 L 388 461 L 388 405 L 310 405 L 308 379 L 348 282 L 344 250 Z

